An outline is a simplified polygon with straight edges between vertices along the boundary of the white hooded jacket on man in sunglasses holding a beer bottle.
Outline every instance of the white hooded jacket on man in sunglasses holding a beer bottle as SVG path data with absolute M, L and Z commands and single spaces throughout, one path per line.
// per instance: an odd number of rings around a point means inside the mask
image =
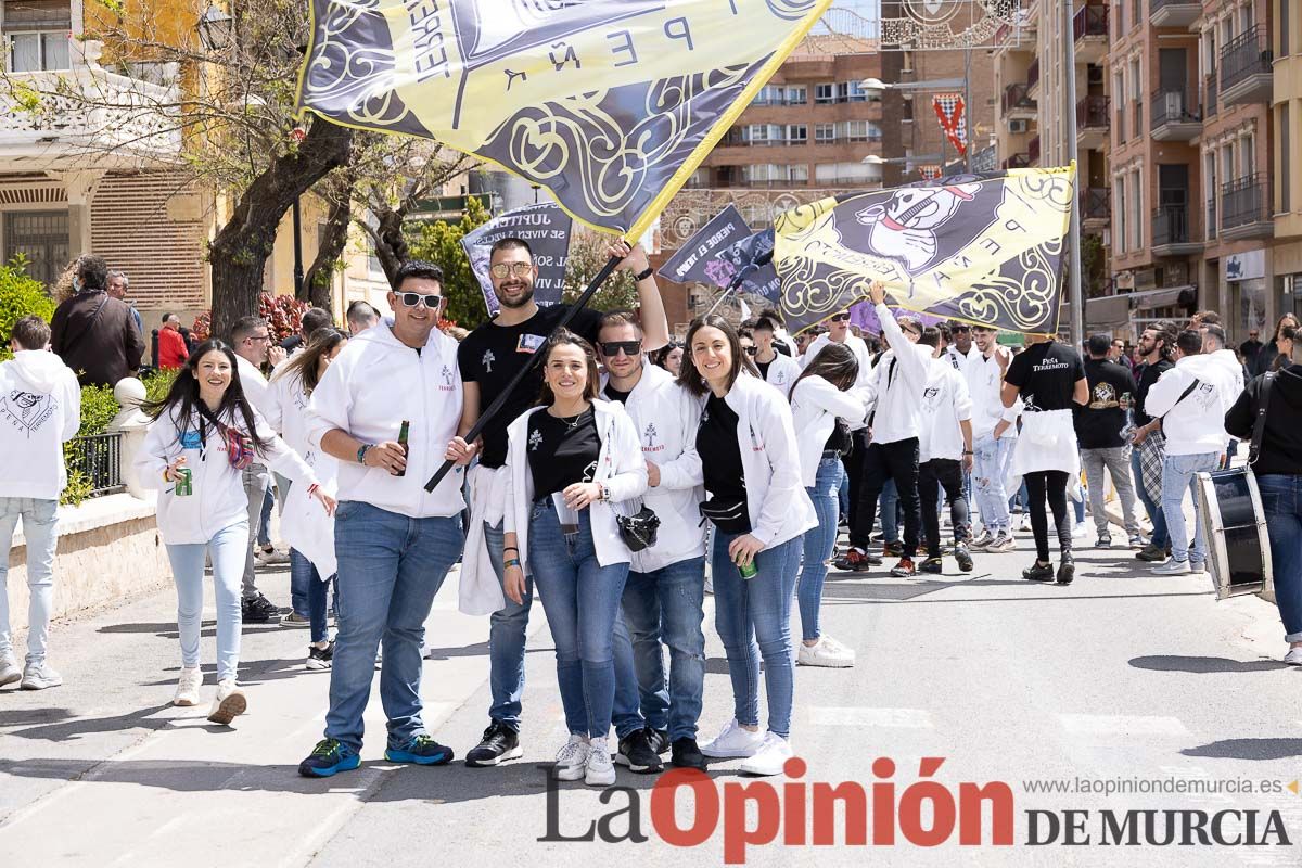
M 457 342 L 434 329 L 417 353 L 393 336 L 393 320 L 357 334 L 326 370 L 307 405 L 307 441 L 339 428 L 362 442 L 397 440 L 411 423 L 406 475 L 357 461 L 339 462 L 339 500 L 362 501 L 408 518 L 449 518 L 465 509 L 462 470 L 449 472 L 434 493 L 424 483 L 443 465 L 461 423 Z

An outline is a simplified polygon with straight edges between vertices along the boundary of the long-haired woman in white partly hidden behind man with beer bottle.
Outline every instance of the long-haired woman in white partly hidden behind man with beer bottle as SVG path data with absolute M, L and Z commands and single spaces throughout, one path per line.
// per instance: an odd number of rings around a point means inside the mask
M 336 479 L 339 462 L 324 452 L 312 449 L 307 441 L 307 401 L 312 396 L 312 389 L 326 376 L 331 362 L 346 345 L 346 332 L 333 327 L 316 329 L 307 336 L 307 345 L 302 353 L 276 368 L 267 390 L 267 424 L 279 431 L 285 444 L 302 455 L 323 484 Z M 290 492 L 292 489 L 280 493 L 286 504 L 290 502 Z M 305 665 L 307 669 L 329 669 L 335 656 L 335 643 L 329 640 L 326 622 L 327 591 L 335 576 L 323 579 L 307 556 L 293 547 L 290 523 L 286 521 L 283 530 L 290 543 L 289 595 L 294 612 L 280 622 L 309 627 Z M 303 610 L 307 612 L 306 621 L 302 617 Z

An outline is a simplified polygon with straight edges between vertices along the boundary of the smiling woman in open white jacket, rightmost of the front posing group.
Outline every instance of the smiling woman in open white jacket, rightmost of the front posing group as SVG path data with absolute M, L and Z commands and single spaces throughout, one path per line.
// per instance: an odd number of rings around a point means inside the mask
M 792 596 L 802 536 L 818 521 L 801 480 L 792 410 L 754 373 L 725 319 L 706 315 L 691 323 L 680 383 L 704 398 L 697 453 L 710 500 L 700 509 L 717 531 L 715 627 L 734 703 L 734 718 L 700 752 L 746 757 L 741 768 L 751 774 L 779 774 L 792 757 Z M 759 731 L 760 657 L 767 734 Z

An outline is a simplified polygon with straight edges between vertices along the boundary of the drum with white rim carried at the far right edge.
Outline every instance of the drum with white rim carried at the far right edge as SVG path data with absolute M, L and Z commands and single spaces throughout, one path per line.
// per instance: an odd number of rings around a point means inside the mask
M 1256 478 L 1246 467 L 1198 474 L 1198 500 L 1216 599 L 1260 592 L 1271 575 L 1271 540 Z

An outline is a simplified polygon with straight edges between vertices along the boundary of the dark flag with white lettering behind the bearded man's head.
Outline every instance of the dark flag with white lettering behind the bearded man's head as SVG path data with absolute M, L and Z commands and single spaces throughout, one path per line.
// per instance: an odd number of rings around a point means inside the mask
M 560 305 L 565 290 L 565 260 L 569 256 L 572 220 L 553 202 L 540 202 L 497 215 L 461 239 L 461 249 L 470 259 L 470 271 L 479 278 L 484 306 L 496 316 L 499 305 L 488 275 L 492 246 L 503 238 L 519 238 L 529 245 L 538 265 L 534 278 L 534 301 L 539 307 Z

